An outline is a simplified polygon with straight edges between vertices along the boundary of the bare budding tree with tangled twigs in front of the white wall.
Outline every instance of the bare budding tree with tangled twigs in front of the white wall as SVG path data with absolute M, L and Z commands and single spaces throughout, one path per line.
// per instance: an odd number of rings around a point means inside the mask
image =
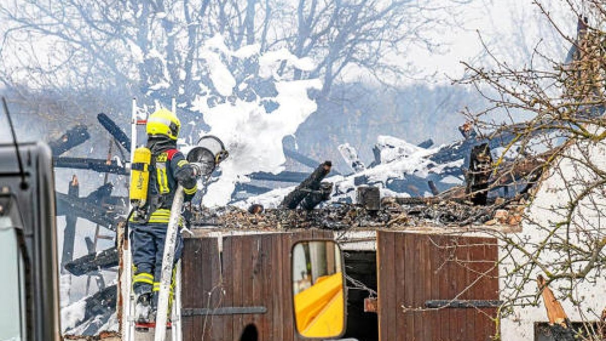
M 468 118 L 485 133 L 513 135 L 493 163 L 494 175 L 513 174 L 529 160 L 534 167 L 533 178 L 520 179 L 536 183 L 522 232 L 490 232 L 502 243 L 501 289 L 507 302 L 501 312 L 538 305 L 544 287 L 534 281 L 543 275 L 576 319 L 591 322 L 606 308 L 590 298 L 596 286 L 604 286 L 606 269 L 606 33 L 600 26 L 606 6 L 601 1 L 567 4 L 579 16 L 576 37 L 567 35 L 551 19 L 550 8 L 536 1 L 562 44 L 572 46 L 567 61 L 535 50 L 534 58 L 546 59 L 551 68 L 530 64 L 517 70 L 494 58 L 496 67 L 490 70 L 467 64 L 462 83 L 476 86 L 493 104 Z M 593 327 L 585 326 L 585 337 L 604 337 Z

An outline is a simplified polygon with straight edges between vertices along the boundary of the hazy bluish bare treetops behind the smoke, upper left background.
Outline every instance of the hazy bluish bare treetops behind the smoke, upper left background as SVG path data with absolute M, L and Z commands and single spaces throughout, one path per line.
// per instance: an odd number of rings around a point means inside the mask
M 463 1 L 465 2 L 465 1 Z M 461 1 L 430 7 L 411 0 L 62 0 L 0 5 L 7 29 L 0 53 L 7 86 L 36 89 L 124 87 L 156 100 L 191 105 L 206 91 L 205 41 L 221 35 L 229 49 L 258 44 L 310 57 L 310 72 L 283 68 L 290 79 L 321 78 L 322 94 L 346 67 L 379 79 L 407 75 L 395 53 L 424 44 L 428 30 L 452 22 Z M 225 56 L 235 74 L 248 67 Z M 213 89 L 210 89 L 213 91 Z

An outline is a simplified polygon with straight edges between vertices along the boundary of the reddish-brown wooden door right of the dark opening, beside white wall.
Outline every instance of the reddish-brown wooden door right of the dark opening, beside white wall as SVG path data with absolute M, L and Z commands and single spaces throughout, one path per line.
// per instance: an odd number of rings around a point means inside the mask
M 488 340 L 496 308 L 418 308 L 426 300 L 498 300 L 497 252 L 493 238 L 378 231 L 379 338 Z

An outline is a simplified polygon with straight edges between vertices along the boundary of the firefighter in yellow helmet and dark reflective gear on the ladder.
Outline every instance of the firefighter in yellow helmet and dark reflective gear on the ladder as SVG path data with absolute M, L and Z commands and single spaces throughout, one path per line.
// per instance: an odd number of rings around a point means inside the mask
M 160 109 L 151 114 L 145 129 L 147 146 L 135 150 L 133 159 L 130 197 L 132 201 L 133 197 L 139 194 L 144 198 L 140 201 L 143 204 L 133 210 L 134 214 L 131 214 L 129 219 L 137 323 L 155 321 L 164 243 L 177 186 L 181 184 L 183 187 L 185 201 L 191 201 L 197 190 L 198 170 L 176 149 L 180 127 L 181 122 L 170 110 Z M 138 163 L 138 160 L 145 158 L 147 161 Z M 133 183 L 136 183 L 135 186 Z M 182 247 L 179 232 L 175 246 L 175 263 L 181 257 Z M 172 281 L 170 297 L 173 295 L 175 284 L 174 271 Z

